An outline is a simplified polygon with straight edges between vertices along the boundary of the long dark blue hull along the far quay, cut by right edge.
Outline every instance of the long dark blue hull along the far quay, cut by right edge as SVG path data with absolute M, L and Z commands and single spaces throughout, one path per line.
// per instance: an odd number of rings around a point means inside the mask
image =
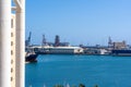
M 121 55 L 121 57 L 131 57 L 131 50 L 112 50 L 111 51 L 112 55 Z

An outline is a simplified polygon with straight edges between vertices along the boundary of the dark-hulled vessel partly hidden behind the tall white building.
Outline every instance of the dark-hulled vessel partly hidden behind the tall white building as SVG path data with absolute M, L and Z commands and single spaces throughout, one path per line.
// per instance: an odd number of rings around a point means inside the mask
M 25 62 L 37 62 L 38 54 L 35 52 L 25 53 Z

